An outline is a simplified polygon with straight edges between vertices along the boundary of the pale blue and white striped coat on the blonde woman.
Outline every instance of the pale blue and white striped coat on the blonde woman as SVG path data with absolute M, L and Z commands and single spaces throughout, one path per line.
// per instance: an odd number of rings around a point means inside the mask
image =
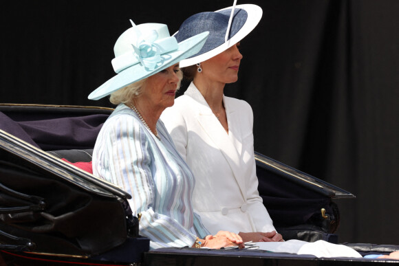
M 209 232 L 193 212 L 194 179 L 161 121 L 161 141 L 125 104 L 116 107 L 101 129 L 93 153 L 94 175 L 130 193 L 141 213 L 140 235 L 150 248 L 192 246 Z

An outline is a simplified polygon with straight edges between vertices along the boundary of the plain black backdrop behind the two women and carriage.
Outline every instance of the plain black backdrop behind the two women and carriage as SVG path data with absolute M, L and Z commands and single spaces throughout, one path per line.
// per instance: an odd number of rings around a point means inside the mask
M 87 95 L 114 76 L 129 19 L 173 33 L 191 14 L 232 3 L 5 1 L 0 102 L 111 107 Z M 263 18 L 225 93 L 251 104 L 255 150 L 356 195 L 336 201 L 340 242 L 399 245 L 399 1 L 250 3 Z

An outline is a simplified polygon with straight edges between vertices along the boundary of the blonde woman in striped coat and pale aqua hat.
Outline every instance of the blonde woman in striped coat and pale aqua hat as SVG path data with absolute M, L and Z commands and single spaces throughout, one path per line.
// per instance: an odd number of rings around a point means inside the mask
M 141 214 L 140 235 L 150 239 L 151 249 L 243 245 L 235 233 L 213 237 L 204 228 L 193 211 L 193 174 L 158 120 L 173 105 L 179 61 L 200 51 L 208 32 L 177 43 L 164 24 L 132 25 L 114 47 L 117 75 L 89 95 L 111 95 L 117 105 L 94 146 L 94 175 L 130 193 L 133 213 Z

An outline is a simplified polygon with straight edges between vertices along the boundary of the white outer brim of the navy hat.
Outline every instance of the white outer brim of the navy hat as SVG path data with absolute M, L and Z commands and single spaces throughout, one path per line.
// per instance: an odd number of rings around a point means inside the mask
M 231 8 L 232 7 L 223 8 L 215 12 L 221 12 L 223 10 L 228 10 Z M 180 67 L 188 67 L 191 65 L 195 65 L 197 63 L 204 62 L 210 58 L 213 58 L 213 56 L 217 56 L 218 54 L 226 51 L 226 49 L 232 47 L 233 45 L 241 41 L 250 32 L 252 32 L 252 30 L 258 25 L 259 21 L 261 20 L 263 14 L 262 9 L 258 5 L 252 5 L 252 4 L 236 5 L 235 8 L 236 10 L 238 8 L 243 9 L 248 14 L 248 18 L 245 24 L 241 27 L 241 29 L 233 37 L 231 37 L 228 41 L 226 41 L 226 43 L 223 43 L 222 45 L 219 45 L 218 47 L 215 47 L 209 50 L 208 52 L 205 52 L 204 54 L 200 54 L 198 56 L 181 60 Z M 177 34 L 177 32 L 175 32 L 175 34 Z M 175 34 L 173 34 L 173 36 L 175 36 Z

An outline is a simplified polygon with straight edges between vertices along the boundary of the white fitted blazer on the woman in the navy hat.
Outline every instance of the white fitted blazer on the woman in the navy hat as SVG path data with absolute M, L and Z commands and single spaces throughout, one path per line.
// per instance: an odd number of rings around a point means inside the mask
M 228 133 L 193 82 L 161 120 L 194 173 L 193 206 L 206 229 L 270 232 L 272 219 L 257 190 L 252 109 L 244 100 L 223 101 Z

